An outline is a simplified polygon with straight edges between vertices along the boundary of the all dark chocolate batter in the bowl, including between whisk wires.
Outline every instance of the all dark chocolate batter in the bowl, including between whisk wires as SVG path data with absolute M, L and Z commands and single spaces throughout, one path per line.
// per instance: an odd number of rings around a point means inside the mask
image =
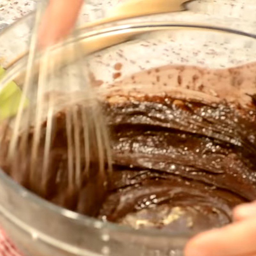
M 50 168 L 43 185 L 46 122 L 36 174 L 28 171 L 32 132 L 26 151 L 17 149 L 12 163 L 6 161 L 9 139 L 4 137 L 1 167 L 55 204 L 133 228 L 197 232 L 220 227 L 231 221 L 234 206 L 256 199 L 254 97 L 251 108 L 243 108 L 224 100 L 121 96 L 120 102 L 103 103 L 114 168 L 107 186 L 92 161 L 90 173 L 81 178 L 82 188 L 68 187 L 65 111 L 53 120 Z M 82 108 L 77 105 L 78 118 Z

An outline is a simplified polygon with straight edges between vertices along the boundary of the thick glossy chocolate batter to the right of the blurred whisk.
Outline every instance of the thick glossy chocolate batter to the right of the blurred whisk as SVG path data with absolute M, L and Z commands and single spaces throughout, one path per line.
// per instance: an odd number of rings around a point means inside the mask
M 116 172 L 100 216 L 199 231 L 256 198 L 255 111 L 170 97 L 108 106 Z

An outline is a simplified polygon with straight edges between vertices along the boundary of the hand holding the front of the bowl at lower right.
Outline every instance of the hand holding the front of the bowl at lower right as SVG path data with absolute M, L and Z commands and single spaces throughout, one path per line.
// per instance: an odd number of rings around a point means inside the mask
M 233 211 L 234 223 L 192 238 L 185 256 L 256 256 L 256 202 Z

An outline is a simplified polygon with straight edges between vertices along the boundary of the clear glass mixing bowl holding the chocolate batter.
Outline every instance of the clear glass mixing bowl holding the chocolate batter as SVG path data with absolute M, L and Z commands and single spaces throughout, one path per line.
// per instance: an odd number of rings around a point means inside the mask
M 0 64 L 9 71 L 17 67 L 20 54 L 28 50 L 32 23 L 33 15 L 29 15 L 0 35 Z M 123 21 L 121 25 L 114 23 L 81 29 L 76 40 L 85 42 L 89 52 L 88 68 L 95 86 L 108 90 L 114 81 L 152 68 L 158 72 L 158 68 L 165 65 L 220 69 L 252 63 L 250 67 L 256 71 L 256 65 L 253 65 L 256 61 L 255 38 L 255 35 L 242 31 L 212 25 Z M 146 92 L 148 88 L 164 93 L 181 82 L 179 78 L 167 86 L 161 77 L 149 73 L 145 76 L 146 73 L 142 78 L 136 76 L 134 83 L 128 79 L 127 83 L 132 84 L 129 88 L 136 93 Z M 246 77 L 248 81 L 255 81 L 256 72 L 248 72 Z M 181 77 L 183 82 L 185 79 L 185 76 Z M 223 89 L 232 81 L 226 83 Z M 119 85 L 125 87 L 127 84 Z M 208 94 L 218 97 L 212 89 Z M 245 91 L 242 94 L 245 100 L 249 98 Z M 201 92 L 199 96 L 209 95 Z M 134 230 L 71 212 L 32 194 L 2 171 L 0 223 L 27 256 L 179 256 L 193 235 Z

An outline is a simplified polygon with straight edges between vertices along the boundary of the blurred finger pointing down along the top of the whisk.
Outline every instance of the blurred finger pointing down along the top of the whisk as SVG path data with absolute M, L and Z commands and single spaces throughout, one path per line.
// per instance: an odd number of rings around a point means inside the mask
M 39 47 L 44 48 L 68 35 L 76 23 L 83 0 L 50 0 L 39 28 Z

